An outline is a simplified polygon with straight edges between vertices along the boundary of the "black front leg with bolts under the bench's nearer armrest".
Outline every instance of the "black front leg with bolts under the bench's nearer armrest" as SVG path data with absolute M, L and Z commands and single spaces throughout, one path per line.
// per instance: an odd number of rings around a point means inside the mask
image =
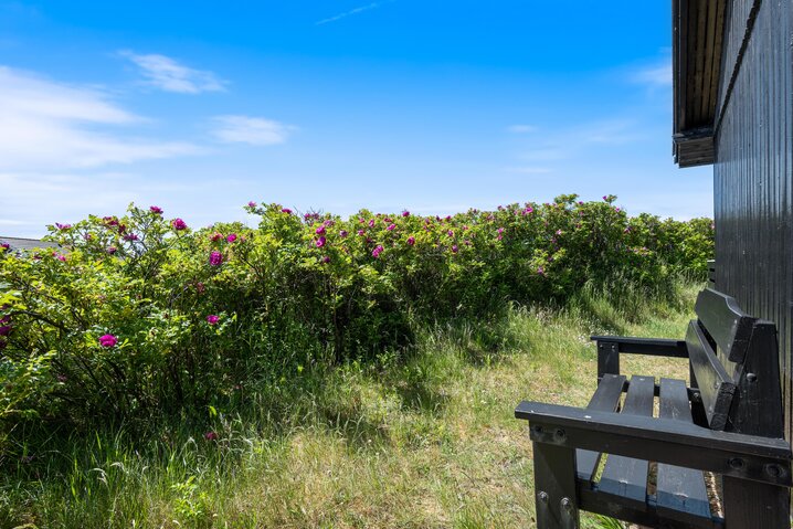
M 533 443 L 538 529 L 578 529 L 575 451 Z

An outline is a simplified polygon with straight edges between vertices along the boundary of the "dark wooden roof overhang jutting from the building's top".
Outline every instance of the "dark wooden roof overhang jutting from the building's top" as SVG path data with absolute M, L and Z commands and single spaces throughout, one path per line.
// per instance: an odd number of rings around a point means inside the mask
M 727 0 L 672 1 L 673 151 L 680 167 L 713 162 Z

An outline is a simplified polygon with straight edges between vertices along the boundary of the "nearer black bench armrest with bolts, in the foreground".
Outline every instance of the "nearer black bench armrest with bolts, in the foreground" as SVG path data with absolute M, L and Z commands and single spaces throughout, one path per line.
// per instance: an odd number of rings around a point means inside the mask
M 791 486 L 791 446 L 784 440 L 716 432 L 672 419 L 598 412 L 524 401 L 516 419 L 531 440 Z

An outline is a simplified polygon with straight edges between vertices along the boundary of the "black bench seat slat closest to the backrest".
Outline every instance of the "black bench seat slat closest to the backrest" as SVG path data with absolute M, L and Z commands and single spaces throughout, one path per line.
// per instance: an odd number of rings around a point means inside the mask
M 660 379 L 660 417 L 691 423 L 686 382 Z M 658 515 L 678 521 L 688 516 L 710 518 L 710 504 L 700 470 L 658 464 L 656 488 Z

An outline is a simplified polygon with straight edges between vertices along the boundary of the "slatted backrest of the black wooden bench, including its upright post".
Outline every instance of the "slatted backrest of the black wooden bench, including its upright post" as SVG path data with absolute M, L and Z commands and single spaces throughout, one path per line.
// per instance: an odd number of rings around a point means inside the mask
M 686 334 L 691 383 L 712 430 L 783 436 L 776 327 L 706 288 Z

